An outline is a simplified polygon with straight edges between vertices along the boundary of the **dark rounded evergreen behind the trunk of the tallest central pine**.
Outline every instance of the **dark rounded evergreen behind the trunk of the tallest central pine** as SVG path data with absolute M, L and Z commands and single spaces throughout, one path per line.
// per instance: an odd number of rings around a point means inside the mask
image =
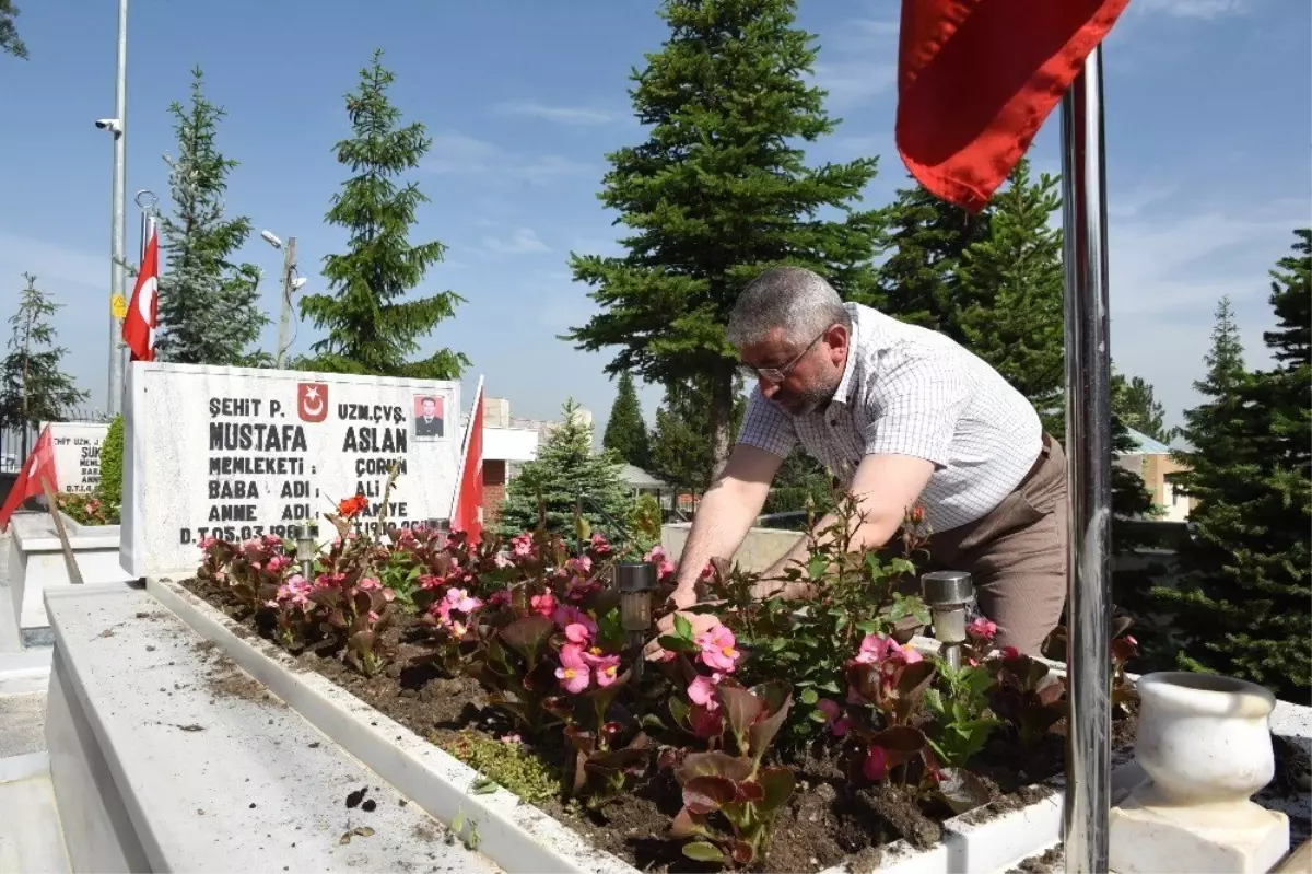
M 747 412 L 741 381 L 733 385 L 733 413 L 729 438 L 737 436 Z M 680 491 L 699 495 L 710 488 L 718 470 L 710 441 L 712 386 L 706 378 L 691 378 L 665 386 L 665 403 L 656 409 L 652 433 L 651 474 Z

